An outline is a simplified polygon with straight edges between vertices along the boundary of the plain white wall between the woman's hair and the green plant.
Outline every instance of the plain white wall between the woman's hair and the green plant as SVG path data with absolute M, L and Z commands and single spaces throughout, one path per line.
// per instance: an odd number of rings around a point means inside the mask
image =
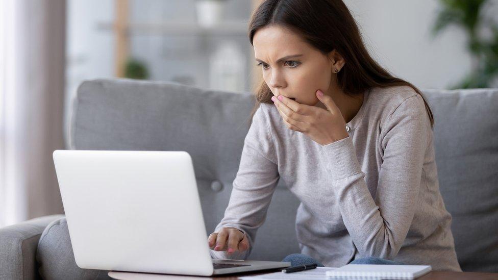
M 496 2 L 493 0 L 491 4 Z M 344 3 L 358 21 L 372 57 L 396 77 L 422 89 L 442 89 L 461 81 L 470 71 L 471 59 L 462 30 L 450 27 L 431 39 L 439 1 L 344 0 Z

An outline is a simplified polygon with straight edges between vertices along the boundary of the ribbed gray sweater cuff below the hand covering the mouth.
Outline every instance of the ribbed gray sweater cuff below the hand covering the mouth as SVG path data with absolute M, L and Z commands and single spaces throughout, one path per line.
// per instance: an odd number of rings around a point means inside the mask
M 333 180 L 341 180 L 362 172 L 351 136 L 323 145 L 321 149 Z

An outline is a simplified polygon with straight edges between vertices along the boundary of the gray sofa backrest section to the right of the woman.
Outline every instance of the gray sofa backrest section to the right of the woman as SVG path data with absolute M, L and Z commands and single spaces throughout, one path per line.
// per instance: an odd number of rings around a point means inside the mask
M 460 266 L 498 272 L 498 89 L 422 91 Z

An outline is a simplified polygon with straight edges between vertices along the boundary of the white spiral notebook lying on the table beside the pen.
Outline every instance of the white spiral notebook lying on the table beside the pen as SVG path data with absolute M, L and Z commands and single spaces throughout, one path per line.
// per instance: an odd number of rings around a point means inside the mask
M 348 264 L 326 271 L 328 279 L 415 279 L 432 270 L 430 265 L 356 265 Z

